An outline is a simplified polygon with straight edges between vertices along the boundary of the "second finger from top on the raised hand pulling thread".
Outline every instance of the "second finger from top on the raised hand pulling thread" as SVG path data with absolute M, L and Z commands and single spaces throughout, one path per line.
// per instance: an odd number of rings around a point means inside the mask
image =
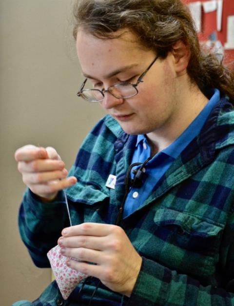
M 46 171 L 61 171 L 64 169 L 64 162 L 62 160 L 53 159 L 36 159 L 29 162 L 20 161 L 18 163 L 18 170 L 23 172 L 46 172 Z

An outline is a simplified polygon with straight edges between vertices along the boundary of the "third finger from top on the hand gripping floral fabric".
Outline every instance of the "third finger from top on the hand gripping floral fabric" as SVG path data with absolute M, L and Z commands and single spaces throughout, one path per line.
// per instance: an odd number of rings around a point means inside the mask
M 102 263 L 103 252 L 84 248 L 61 248 L 61 254 L 83 262 Z

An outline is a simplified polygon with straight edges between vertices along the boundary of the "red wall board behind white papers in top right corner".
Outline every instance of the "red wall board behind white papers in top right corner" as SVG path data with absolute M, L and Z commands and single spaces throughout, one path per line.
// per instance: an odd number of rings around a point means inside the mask
M 185 3 L 196 2 L 197 0 L 184 0 Z M 205 2 L 207 0 L 200 0 Z M 202 32 L 198 33 L 199 39 L 205 41 L 216 31 L 217 39 L 224 44 L 227 42 L 227 18 L 234 15 L 234 0 L 223 0 L 222 27 L 221 31 L 217 31 L 216 11 L 204 13 L 202 11 Z M 234 60 L 234 50 L 225 50 L 225 58 L 227 61 Z

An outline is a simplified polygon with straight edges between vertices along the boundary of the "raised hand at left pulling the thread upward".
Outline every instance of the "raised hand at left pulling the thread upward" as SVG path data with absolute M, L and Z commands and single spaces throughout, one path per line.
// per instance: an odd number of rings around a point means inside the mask
M 77 183 L 75 176 L 67 176 L 65 164 L 52 147 L 27 145 L 15 153 L 23 182 L 42 201 L 53 200 L 59 190 Z

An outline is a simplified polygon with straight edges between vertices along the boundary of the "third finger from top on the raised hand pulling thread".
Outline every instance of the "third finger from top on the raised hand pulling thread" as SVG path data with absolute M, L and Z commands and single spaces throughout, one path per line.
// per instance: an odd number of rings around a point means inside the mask
M 66 169 L 62 171 L 52 172 L 38 172 L 38 173 L 24 173 L 23 182 L 24 184 L 41 184 L 51 180 L 62 179 L 67 176 L 68 172 Z

